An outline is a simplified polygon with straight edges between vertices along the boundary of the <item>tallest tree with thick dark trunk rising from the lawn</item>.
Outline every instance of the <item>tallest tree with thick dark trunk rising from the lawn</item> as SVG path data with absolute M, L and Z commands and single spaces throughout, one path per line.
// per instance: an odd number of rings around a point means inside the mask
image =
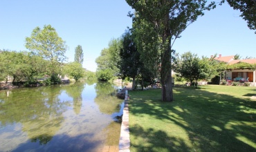
M 167 0 L 126 0 L 136 10 L 139 20 L 152 27 L 160 45 L 154 55 L 161 60 L 162 101 L 171 102 L 172 93 L 172 45 L 187 26 L 203 15 L 205 0 L 167 1 Z M 135 17 L 136 18 L 136 17 Z M 151 37 L 149 37 L 151 38 Z

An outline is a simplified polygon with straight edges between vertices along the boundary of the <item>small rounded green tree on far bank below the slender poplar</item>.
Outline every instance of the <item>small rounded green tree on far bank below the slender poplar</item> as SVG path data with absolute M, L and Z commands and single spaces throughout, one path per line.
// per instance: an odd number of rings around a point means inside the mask
M 74 61 L 68 64 L 65 64 L 63 68 L 63 73 L 67 74 L 77 81 L 81 77 L 84 77 L 85 70 L 82 68 L 82 64 Z

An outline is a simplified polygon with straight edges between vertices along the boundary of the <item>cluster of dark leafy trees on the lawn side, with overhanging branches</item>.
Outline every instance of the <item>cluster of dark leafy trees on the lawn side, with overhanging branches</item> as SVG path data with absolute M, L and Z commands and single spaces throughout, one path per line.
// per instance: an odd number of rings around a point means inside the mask
M 188 78 L 190 81 L 192 79 L 200 79 L 200 77 L 206 77 L 208 79 L 216 74 L 216 72 L 208 70 L 209 67 L 213 68 L 214 64 L 216 64 L 213 59 L 209 60 L 203 57 L 200 60 L 191 53 L 186 53 L 180 58 L 175 59 L 173 56 L 174 50 L 172 49 L 175 40 L 181 37 L 181 33 L 191 23 L 196 21 L 198 17 L 204 15 L 205 10 L 216 8 L 217 4 L 215 1 L 211 3 L 208 3 L 206 0 L 126 1 L 135 10 L 134 14 L 129 13 L 129 16 L 133 19 L 132 28 L 127 32 L 131 36 L 131 41 L 127 40 L 127 37 L 125 37 L 126 34 L 121 39 L 118 39 L 121 41 L 119 44 L 122 44 L 122 46 L 116 48 L 116 58 L 111 59 L 114 64 L 118 63 L 116 67 L 119 68 L 121 75 L 138 77 L 138 75 L 143 75 L 143 71 L 151 71 L 151 74 L 154 77 L 159 77 L 161 81 L 162 100 L 171 102 L 173 100 L 172 68 L 179 71 L 179 73 L 184 72 L 183 75 L 190 75 L 190 78 Z M 255 8 L 255 2 L 244 0 L 227 1 L 231 7 L 242 12 L 241 17 L 248 21 L 248 27 L 254 30 L 255 13 L 253 12 L 255 10 L 253 8 Z M 224 2 L 223 0 L 218 3 L 221 5 Z M 104 50 L 104 53 L 102 51 L 101 57 L 99 58 L 103 58 L 108 51 L 111 52 L 108 49 Z M 109 54 L 111 56 L 111 53 Z M 180 66 L 180 63 L 186 61 L 186 57 L 191 59 L 190 64 L 195 66 L 191 70 L 197 71 L 193 75 L 190 74 L 192 71 L 185 71 L 185 68 L 189 66 Z M 103 65 L 99 60 L 96 60 L 98 66 Z M 104 64 L 104 66 L 108 65 Z M 100 73 L 100 70 L 103 69 L 98 68 L 98 73 Z M 214 71 L 217 70 L 215 69 Z

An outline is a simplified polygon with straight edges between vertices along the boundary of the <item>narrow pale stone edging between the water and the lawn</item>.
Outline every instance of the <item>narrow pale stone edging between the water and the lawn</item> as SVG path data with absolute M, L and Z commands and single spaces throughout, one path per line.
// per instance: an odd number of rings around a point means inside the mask
M 119 139 L 119 151 L 130 151 L 130 132 L 129 132 L 129 107 L 128 107 L 128 91 L 125 91 L 125 106 L 122 111 L 122 125 Z

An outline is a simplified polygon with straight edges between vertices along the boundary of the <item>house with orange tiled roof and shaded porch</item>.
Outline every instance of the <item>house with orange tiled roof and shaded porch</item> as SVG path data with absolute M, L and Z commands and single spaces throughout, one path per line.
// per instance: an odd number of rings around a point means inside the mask
M 238 63 L 247 63 L 255 64 L 256 59 L 234 59 L 235 55 L 222 57 L 215 57 L 214 59 L 218 61 L 223 61 L 228 65 L 238 64 Z M 251 86 L 256 86 L 256 70 L 255 69 L 230 69 L 225 70 L 224 77 L 220 76 L 221 79 L 226 79 L 226 81 L 239 81 L 239 82 L 250 82 Z

